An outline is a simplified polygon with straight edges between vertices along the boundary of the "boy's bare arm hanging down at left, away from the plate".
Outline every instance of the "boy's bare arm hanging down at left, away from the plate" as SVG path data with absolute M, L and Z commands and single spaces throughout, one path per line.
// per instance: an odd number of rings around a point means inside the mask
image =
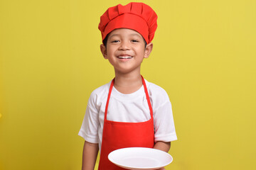
M 82 170 L 94 170 L 99 145 L 86 142 L 82 151 Z

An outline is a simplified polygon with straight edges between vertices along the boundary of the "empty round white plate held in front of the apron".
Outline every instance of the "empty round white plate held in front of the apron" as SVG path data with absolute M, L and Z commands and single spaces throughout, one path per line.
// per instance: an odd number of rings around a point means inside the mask
M 132 170 L 159 169 L 173 161 L 170 154 L 159 149 L 146 147 L 117 149 L 108 155 L 108 159 L 117 166 Z

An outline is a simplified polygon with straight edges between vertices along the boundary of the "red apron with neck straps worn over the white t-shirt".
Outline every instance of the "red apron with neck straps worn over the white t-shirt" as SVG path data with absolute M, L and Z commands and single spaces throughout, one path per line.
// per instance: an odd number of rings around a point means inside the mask
M 142 84 L 146 93 L 146 100 L 149 104 L 151 118 L 141 123 L 124 123 L 107 120 L 107 108 L 110 95 L 114 86 L 114 79 L 110 85 L 105 108 L 104 127 L 102 134 L 102 147 L 100 153 L 99 170 L 120 170 L 119 166 L 112 164 L 107 158 L 110 152 L 124 147 L 154 147 L 154 119 L 149 94 L 146 89 L 144 78 Z

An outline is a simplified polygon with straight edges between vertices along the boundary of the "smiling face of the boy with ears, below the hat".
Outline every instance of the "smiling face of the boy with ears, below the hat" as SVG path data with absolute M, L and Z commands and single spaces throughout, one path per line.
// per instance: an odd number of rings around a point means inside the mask
M 140 72 L 144 58 L 149 57 L 153 44 L 144 44 L 137 31 L 119 28 L 108 35 L 107 47 L 100 46 L 102 55 L 113 65 L 115 72 Z

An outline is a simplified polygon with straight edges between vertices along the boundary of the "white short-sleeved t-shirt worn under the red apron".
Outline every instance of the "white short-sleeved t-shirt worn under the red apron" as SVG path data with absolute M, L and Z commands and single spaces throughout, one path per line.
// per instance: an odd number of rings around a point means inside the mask
M 166 91 L 156 84 L 146 81 L 154 117 L 155 142 L 171 142 L 177 140 L 171 102 Z M 85 118 L 78 135 L 87 142 L 102 144 L 105 106 L 111 81 L 92 91 Z M 144 86 L 132 94 L 122 94 L 112 89 L 107 111 L 107 120 L 118 122 L 144 122 L 150 119 L 149 105 L 146 101 Z

